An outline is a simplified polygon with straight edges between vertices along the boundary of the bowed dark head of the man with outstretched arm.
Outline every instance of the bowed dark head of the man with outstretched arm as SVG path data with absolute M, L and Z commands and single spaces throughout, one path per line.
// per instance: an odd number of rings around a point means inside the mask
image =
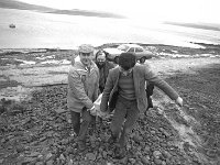
M 128 70 L 136 64 L 136 57 L 133 53 L 121 53 L 119 56 L 119 66 Z

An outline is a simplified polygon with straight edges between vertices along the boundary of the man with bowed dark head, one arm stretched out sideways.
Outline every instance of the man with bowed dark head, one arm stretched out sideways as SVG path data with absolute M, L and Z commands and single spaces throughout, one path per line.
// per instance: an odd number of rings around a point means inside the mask
M 183 99 L 178 94 L 148 66 L 138 64 L 134 54 L 122 53 L 119 56 L 119 66 L 109 72 L 100 105 L 102 112 L 116 108 L 109 142 L 117 143 L 114 154 L 119 158 L 125 154 L 127 134 L 132 130 L 139 114 L 147 108 L 146 81 L 155 85 L 177 105 L 183 106 Z

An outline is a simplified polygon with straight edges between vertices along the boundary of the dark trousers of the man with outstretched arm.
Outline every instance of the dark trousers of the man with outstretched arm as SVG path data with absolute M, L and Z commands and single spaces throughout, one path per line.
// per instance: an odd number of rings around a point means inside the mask
M 118 139 L 118 143 L 123 147 L 127 143 L 127 135 L 133 129 L 139 117 L 136 100 L 130 101 L 118 97 L 114 114 L 111 121 L 112 136 Z

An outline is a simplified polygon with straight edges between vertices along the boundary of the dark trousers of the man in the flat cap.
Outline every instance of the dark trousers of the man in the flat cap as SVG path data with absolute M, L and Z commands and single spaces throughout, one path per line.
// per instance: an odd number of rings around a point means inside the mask
M 96 117 L 91 116 L 86 108 L 81 111 L 81 119 L 82 122 L 80 123 L 80 113 L 70 111 L 72 114 L 72 124 L 74 128 L 75 133 L 78 135 L 79 141 L 86 140 L 87 130 L 90 123 L 96 121 Z

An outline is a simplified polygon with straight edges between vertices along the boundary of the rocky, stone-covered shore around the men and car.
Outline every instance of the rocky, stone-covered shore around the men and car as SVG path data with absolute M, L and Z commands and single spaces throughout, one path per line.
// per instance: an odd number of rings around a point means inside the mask
M 180 109 L 155 89 L 154 108 L 140 117 L 122 160 L 114 158 L 107 143 L 111 119 L 89 130 L 85 152 L 76 148 L 66 118 L 66 62 L 75 51 L 1 51 L 0 164 L 220 164 L 220 46 L 201 45 L 144 45 L 158 55 L 147 63 L 185 103 Z M 43 63 L 50 61 L 54 63 Z M 20 99 L 10 99 L 21 92 Z

